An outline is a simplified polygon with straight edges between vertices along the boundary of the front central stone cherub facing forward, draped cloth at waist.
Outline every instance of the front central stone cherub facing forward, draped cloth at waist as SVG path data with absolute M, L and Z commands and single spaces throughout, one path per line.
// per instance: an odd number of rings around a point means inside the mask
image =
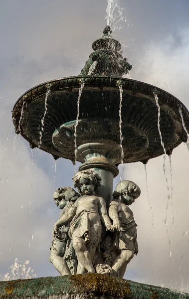
M 100 186 L 101 178 L 91 170 L 79 171 L 74 177 L 74 187 L 82 195 L 55 223 L 53 234 L 59 234 L 59 228 L 70 222 L 69 236 L 78 259 L 77 274 L 95 273 L 93 258 L 101 239 L 102 223 L 107 230 L 114 227 L 107 214 L 104 198 L 96 192 Z

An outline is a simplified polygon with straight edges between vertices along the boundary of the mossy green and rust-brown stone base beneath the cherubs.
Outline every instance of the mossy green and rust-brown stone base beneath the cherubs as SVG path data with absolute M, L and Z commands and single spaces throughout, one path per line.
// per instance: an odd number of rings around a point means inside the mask
M 189 299 L 166 288 L 104 274 L 0 282 L 0 299 Z

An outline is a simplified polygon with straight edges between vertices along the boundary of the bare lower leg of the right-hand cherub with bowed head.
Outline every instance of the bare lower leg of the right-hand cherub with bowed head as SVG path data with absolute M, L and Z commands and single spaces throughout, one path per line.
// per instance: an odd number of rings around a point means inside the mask
M 134 257 L 134 251 L 133 250 L 122 250 L 120 255 L 114 260 L 112 264 L 112 269 L 117 273 L 118 277 L 123 278 L 124 274 L 127 269 L 127 265 L 131 261 L 131 259 Z

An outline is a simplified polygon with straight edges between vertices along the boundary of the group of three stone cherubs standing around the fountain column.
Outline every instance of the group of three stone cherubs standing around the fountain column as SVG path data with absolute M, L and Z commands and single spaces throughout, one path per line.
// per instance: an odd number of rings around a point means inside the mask
M 138 253 L 137 224 L 129 205 L 140 196 L 140 188 L 132 181 L 119 182 L 107 211 L 98 195 L 101 178 L 94 170 L 82 170 L 73 180 L 81 196 L 71 187 L 54 193 L 63 210 L 53 227 L 50 261 L 61 275 L 96 272 L 123 277 Z

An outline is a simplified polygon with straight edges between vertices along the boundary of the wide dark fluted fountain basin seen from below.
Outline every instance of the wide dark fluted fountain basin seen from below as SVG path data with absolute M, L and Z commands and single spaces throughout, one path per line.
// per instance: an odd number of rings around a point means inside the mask
M 85 81 L 85 85 L 80 98 L 79 119 L 88 124 L 88 131 L 82 129 L 82 126 L 78 127 L 77 146 L 89 141 L 109 141 L 119 147 L 120 91 L 118 84 L 123 87 L 124 162 L 146 162 L 148 159 L 164 153 L 158 131 L 155 91 L 158 94 L 161 107 L 160 129 L 167 153 L 170 154 L 174 148 L 187 141 L 179 108 L 182 110 L 187 130 L 189 130 L 189 112 L 177 98 L 166 91 L 126 78 L 84 76 L 82 80 Z M 61 138 L 58 136 L 58 132 L 61 135 L 59 128 L 65 123 L 76 120 L 80 82 L 81 76 L 66 77 L 48 81 L 27 91 L 18 99 L 12 111 L 15 131 L 20 133 L 30 143 L 31 147 L 39 146 L 41 119 L 45 109 L 44 99 L 47 87 L 50 85 L 51 93 L 47 99 L 47 112 L 44 117 L 40 149 L 56 157 L 74 160 L 73 134 L 63 134 L 60 148 L 57 144 L 56 147 L 53 145 L 52 136 L 56 131 L 55 141 L 57 142 L 57 137 Z M 101 128 L 104 130 L 103 134 L 95 135 L 94 130 L 92 130 L 93 132 L 91 129 L 89 130 L 90 127 L 94 127 L 95 122 L 97 125 L 101 124 Z M 19 130 L 20 132 L 18 132 Z M 135 145 L 137 145 L 138 150 L 133 153 Z

